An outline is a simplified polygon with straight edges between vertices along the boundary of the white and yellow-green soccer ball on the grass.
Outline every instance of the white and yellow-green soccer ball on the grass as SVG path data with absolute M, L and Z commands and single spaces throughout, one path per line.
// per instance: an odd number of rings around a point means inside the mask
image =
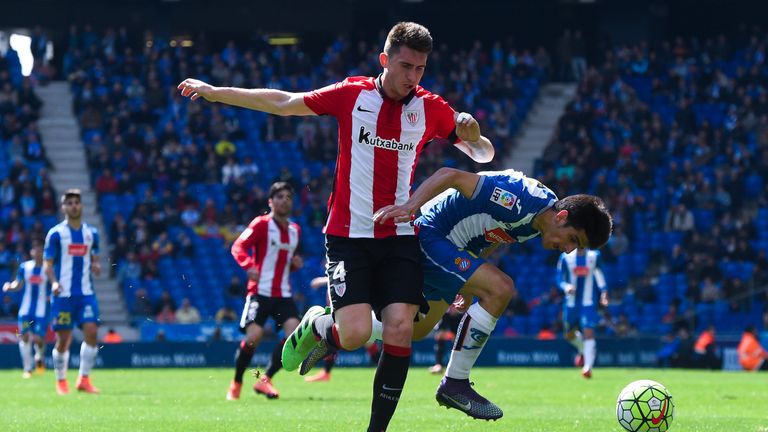
M 674 413 L 672 395 L 656 381 L 629 383 L 616 401 L 619 424 L 630 432 L 665 432 L 672 425 Z

